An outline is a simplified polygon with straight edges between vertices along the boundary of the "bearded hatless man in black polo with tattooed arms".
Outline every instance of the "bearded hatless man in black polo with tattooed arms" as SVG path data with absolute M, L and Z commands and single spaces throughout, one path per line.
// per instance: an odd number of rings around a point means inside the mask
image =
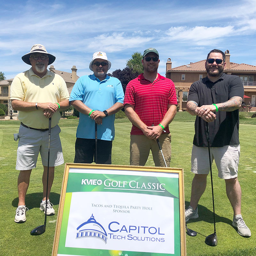
M 186 222 L 198 218 L 197 204 L 206 188 L 210 170 L 205 124 L 209 126 L 211 160 L 215 160 L 219 177 L 225 180 L 228 199 L 233 207 L 232 225 L 241 236 L 251 236 L 241 215 L 241 188 L 237 179 L 240 155 L 238 137 L 239 113 L 244 87 L 238 76 L 223 74 L 225 54 L 220 50 L 209 52 L 205 69 L 207 76 L 189 89 L 187 111 L 195 116 L 195 136 L 191 156 L 191 199 L 185 211 Z

